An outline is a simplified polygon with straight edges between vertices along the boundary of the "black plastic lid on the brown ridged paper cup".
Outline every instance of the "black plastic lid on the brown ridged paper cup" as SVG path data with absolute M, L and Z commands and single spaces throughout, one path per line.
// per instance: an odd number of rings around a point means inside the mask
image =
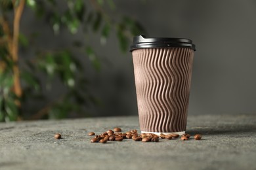
M 196 46 L 190 39 L 180 38 L 147 38 L 144 35 L 133 37 L 133 44 L 130 52 L 140 48 L 166 48 L 166 47 L 186 47 L 196 51 Z

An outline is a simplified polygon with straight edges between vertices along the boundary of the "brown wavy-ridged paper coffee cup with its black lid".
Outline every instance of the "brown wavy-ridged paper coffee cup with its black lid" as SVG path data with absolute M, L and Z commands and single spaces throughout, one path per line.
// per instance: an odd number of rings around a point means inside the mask
M 194 50 L 189 39 L 134 37 L 141 133 L 185 132 Z

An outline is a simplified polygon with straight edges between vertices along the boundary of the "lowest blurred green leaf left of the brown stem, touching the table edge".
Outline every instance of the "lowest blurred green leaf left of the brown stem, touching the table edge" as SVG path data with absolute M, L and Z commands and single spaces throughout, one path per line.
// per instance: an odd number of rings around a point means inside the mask
M 5 99 L 5 111 L 7 112 L 9 121 L 15 121 L 18 118 L 18 107 L 15 104 L 14 99 Z

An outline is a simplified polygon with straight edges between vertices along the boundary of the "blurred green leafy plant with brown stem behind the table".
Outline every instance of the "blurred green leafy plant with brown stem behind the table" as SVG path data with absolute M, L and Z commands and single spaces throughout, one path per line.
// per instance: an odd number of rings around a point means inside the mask
M 22 7 L 24 3 L 25 7 Z M 144 33 L 142 26 L 129 16 L 113 16 L 116 5 L 113 0 L 1 0 L 0 1 L 0 121 L 15 121 L 40 118 L 66 118 L 72 112 L 83 114 L 87 106 L 97 105 L 98 99 L 88 89 L 88 80 L 83 65 L 75 56 L 72 48 L 62 50 L 32 50 L 31 36 L 19 31 L 22 10 L 33 10 L 38 22 L 46 20 L 53 28 L 54 35 L 60 31 L 69 31 L 73 36 L 83 30 L 82 34 L 93 32 L 100 35 L 102 44 L 107 42 L 110 33 L 115 33 L 119 48 L 127 52 L 131 37 Z M 64 9 L 64 10 L 59 10 Z M 20 10 L 20 11 L 19 11 Z M 20 13 L 19 13 L 20 12 Z M 24 12 L 24 11 L 23 11 Z M 112 15 L 110 14 L 112 13 Z M 117 16 L 117 15 L 116 15 Z M 115 18 L 115 19 L 114 19 Z M 25 19 L 25 18 L 24 18 Z M 18 33 L 15 30 L 18 29 Z M 80 31 L 81 32 L 81 31 Z M 80 33 L 81 34 L 81 33 Z M 18 36 L 18 37 L 15 37 Z M 38 37 L 33 36 L 33 39 Z M 18 43 L 15 43 L 17 38 Z M 74 42 L 74 46 L 82 48 L 84 56 L 89 58 L 95 71 L 100 71 L 101 62 L 89 42 Z M 36 51 L 30 59 L 18 56 L 15 48 L 30 48 Z M 17 59 L 15 59 L 15 56 Z M 22 61 L 22 62 L 21 62 Z M 20 64 L 22 63 L 22 65 Z M 18 71 L 17 69 L 18 68 Z M 45 75 L 46 80 L 42 75 Z M 54 80 L 66 87 L 64 93 L 52 101 L 45 100 L 44 89 L 54 92 Z M 20 89 L 20 93 L 19 92 Z M 45 106 L 38 112 L 24 117 L 26 100 L 44 100 Z M 79 116 L 85 116 L 79 115 Z

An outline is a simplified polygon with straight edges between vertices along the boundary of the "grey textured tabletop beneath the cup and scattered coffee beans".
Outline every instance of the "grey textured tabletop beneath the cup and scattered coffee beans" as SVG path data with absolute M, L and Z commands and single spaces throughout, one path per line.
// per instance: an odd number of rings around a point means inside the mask
M 189 115 L 187 132 L 202 140 L 159 143 L 90 143 L 89 131 L 139 129 L 137 116 L 1 123 L 0 169 L 256 169 L 255 118 Z

